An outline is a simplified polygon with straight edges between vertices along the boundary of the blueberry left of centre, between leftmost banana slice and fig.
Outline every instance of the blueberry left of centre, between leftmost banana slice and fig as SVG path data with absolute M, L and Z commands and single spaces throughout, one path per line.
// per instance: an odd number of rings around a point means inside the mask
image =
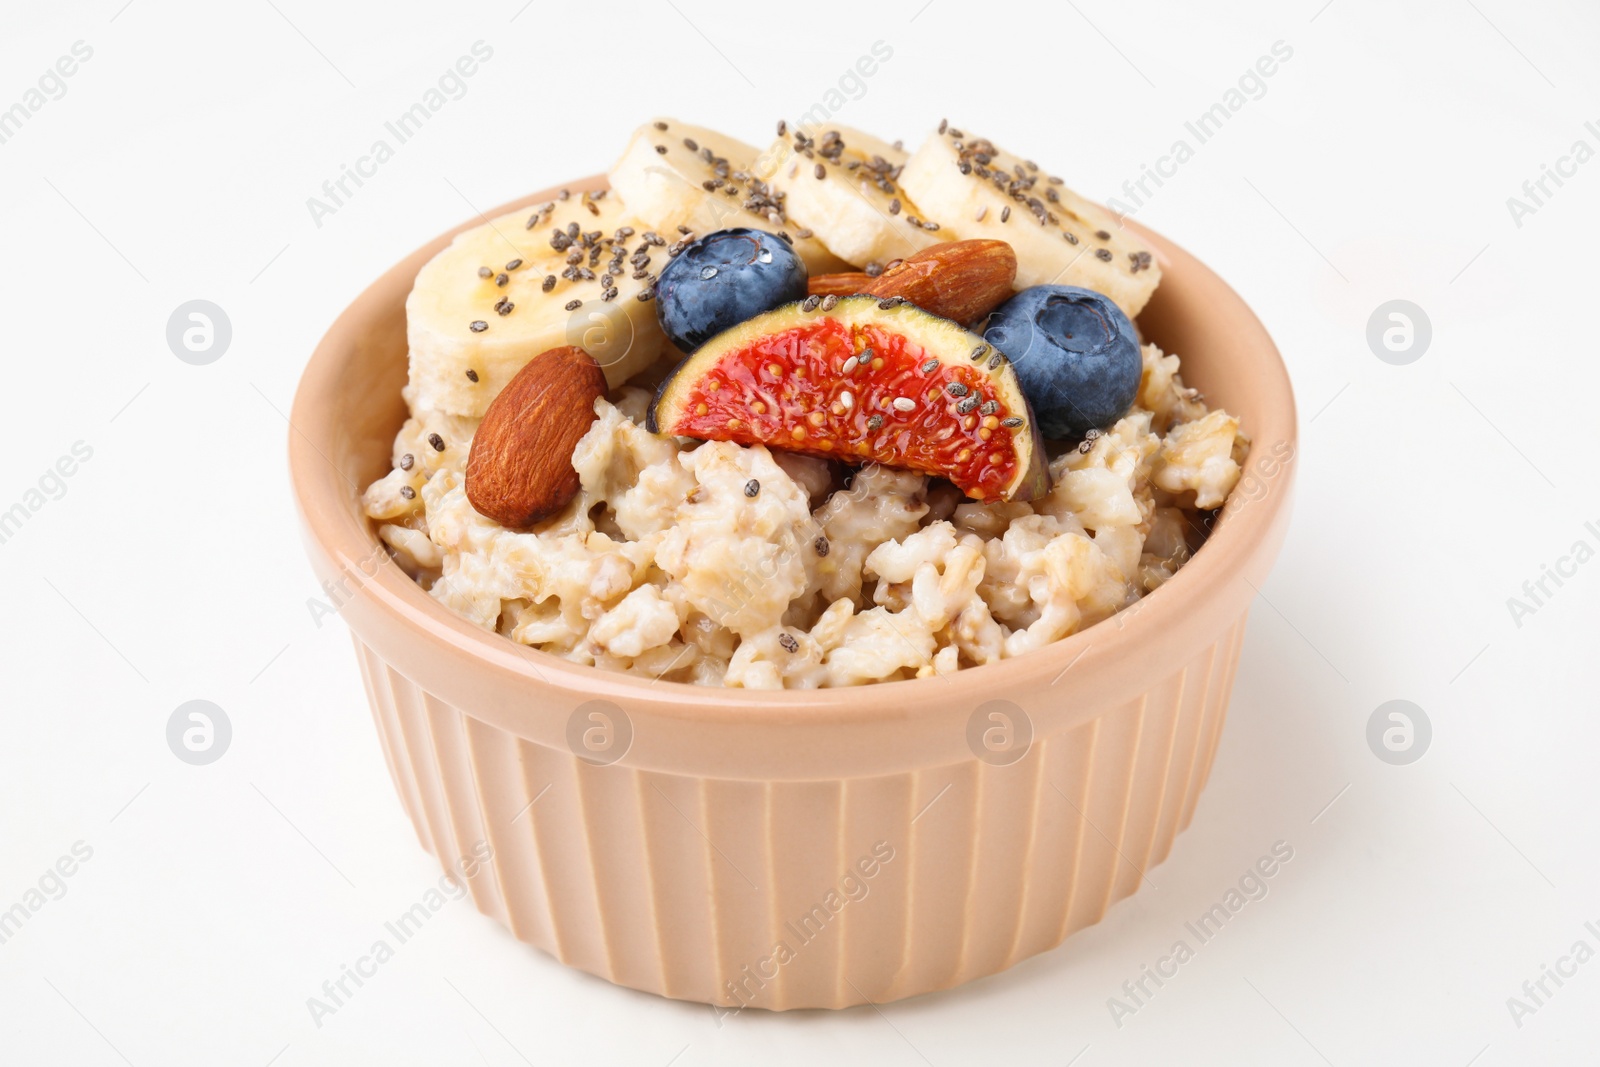
M 667 339 L 693 352 L 730 326 L 805 299 L 806 270 L 789 242 L 762 230 L 717 230 L 688 245 L 656 282 Z

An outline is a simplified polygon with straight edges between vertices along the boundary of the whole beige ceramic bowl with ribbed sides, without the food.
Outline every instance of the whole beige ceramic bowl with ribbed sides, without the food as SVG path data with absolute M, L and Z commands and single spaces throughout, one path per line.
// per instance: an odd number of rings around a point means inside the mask
M 406 416 L 406 293 L 451 237 L 381 277 L 317 346 L 290 467 L 422 846 L 446 867 L 493 854 L 470 878 L 478 910 L 621 985 L 840 1008 L 1051 949 L 1166 857 L 1211 769 L 1296 453 L 1277 349 L 1214 274 L 1146 234 L 1163 280 L 1141 330 L 1254 438 L 1173 581 L 1019 659 L 766 693 L 546 656 L 453 616 L 387 560 L 358 498 Z

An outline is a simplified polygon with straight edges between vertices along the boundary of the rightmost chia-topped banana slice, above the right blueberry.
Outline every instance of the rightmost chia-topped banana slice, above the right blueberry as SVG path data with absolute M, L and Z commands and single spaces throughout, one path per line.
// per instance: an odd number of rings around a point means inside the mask
M 901 186 L 947 240 L 995 238 L 1016 250 L 1016 285 L 1082 285 L 1128 312 L 1162 280 L 1155 254 L 1106 208 L 1029 160 L 941 125 L 906 163 Z

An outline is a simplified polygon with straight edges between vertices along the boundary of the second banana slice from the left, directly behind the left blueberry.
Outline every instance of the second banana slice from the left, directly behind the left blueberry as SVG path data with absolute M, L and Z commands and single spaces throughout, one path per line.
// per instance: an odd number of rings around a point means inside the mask
M 715 130 L 675 118 L 634 131 L 611 168 L 611 189 L 664 235 L 749 227 L 789 235 L 811 274 L 848 269 L 822 242 L 790 221 L 781 197 L 754 176 L 757 150 Z M 683 227 L 682 230 L 678 227 Z

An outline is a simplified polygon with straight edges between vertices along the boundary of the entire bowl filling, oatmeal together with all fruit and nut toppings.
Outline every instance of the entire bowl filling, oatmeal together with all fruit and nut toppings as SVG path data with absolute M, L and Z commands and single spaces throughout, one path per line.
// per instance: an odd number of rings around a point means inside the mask
M 522 645 L 744 688 L 950 673 L 1158 589 L 1248 438 L 1142 344 L 1142 238 L 949 123 L 778 133 L 654 120 L 422 267 L 363 498 L 398 565 Z

